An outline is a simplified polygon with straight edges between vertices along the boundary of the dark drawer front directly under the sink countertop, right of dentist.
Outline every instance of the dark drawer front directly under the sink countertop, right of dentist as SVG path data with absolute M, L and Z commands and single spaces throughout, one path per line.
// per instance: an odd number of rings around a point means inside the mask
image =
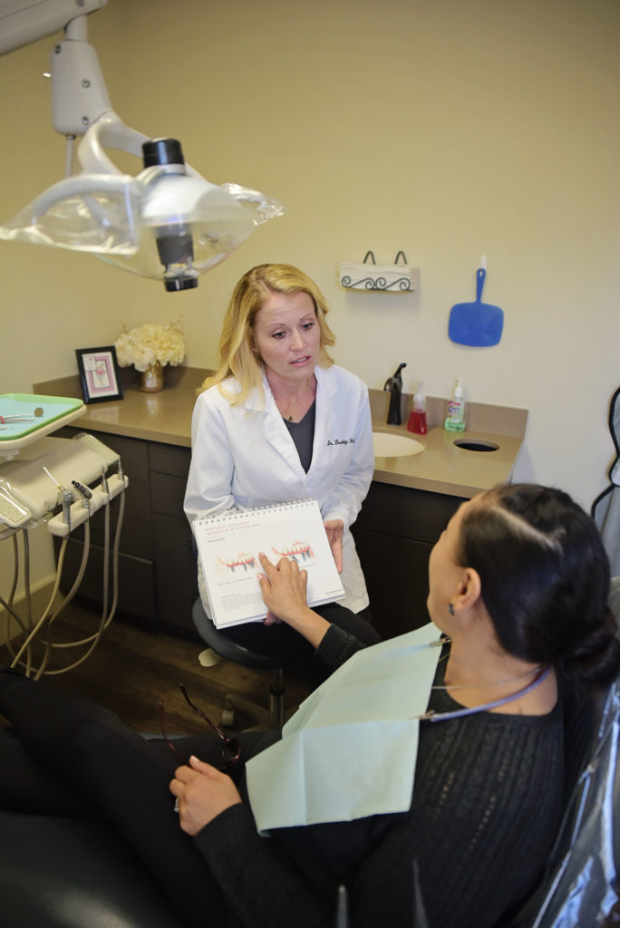
M 355 528 L 434 544 L 463 500 L 391 483 L 371 483 Z

